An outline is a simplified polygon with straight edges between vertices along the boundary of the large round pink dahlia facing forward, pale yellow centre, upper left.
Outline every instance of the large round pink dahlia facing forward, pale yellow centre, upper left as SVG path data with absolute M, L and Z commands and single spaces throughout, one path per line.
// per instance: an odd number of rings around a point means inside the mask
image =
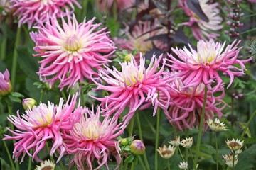
M 73 15 L 73 22 L 68 16 L 68 23 L 62 17 L 62 27 L 57 18 L 52 17 L 46 21 L 46 26 L 36 27 L 38 35 L 31 33 L 31 38 L 36 42 L 35 51 L 43 60 L 38 74 L 45 81 L 54 84 L 60 80 L 60 90 L 65 86 L 75 86 L 75 82 L 92 80 L 92 75 L 97 77 L 93 69 L 100 69 L 114 52 L 114 43 L 108 38 L 107 28 L 96 30 L 101 24 L 90 21 L 78 21 Z M 50 77 L 50 79 L 48 79 Z

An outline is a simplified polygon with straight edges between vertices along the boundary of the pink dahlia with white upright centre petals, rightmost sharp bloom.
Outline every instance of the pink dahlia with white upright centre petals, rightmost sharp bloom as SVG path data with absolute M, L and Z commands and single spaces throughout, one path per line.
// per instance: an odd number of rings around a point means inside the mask
M 177 60 L 172 55 L 168 55 L 171 60 L 169 62 L 173 63 L 169 67 L 174 70 L 181 70 L 178 76 L 184 76 L 184 87 L 198 86 L 201 82 L 207 85 L 208 90 L 211 90 L 211 84 L 213 80 L 217 80 L 217 85 L 213 88 L 213 91 L 220 88 L 222 79 L 218 74 L 218 70 L 225 72 L 230 76 L 230 84 L 232 84 L 234 76 L 239 76 L 244 73 L 245 65 L 244 63 L 250 61 L 252 57 L 248 60 L 238 60 L 238 53 L 242 47 L 237 48 L 238 44 L 235 44 L 236 40 L 225 47 L 224 44 L 219 42 L 210 41 L 198 41 L 197 51 L 193 50 L 189 45 L 190 50 L 183 47 L 183 50 L 178 50 L 172 48 L 171 50 L 178 56 L 180 60 Z M 233 64 L 240 64 L 241 69 L 233 66 Z

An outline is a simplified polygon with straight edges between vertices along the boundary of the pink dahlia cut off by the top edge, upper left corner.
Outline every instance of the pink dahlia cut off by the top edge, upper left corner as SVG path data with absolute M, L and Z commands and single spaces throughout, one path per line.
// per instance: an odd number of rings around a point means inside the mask
M 76 0 L 11 0 L 11 2 L 14 4 L 11 8 L 16 8 L 14 15 L 18 14 L 18 26 L 28 23 L 28 28 L 31 28 L 34 22 L 36 25 L 46 22 L 47 15 L 56 15 L 58 18 L 69 16 L 75 10 L 73 4 L 82 8 Z M 63 12 L 63 8 L 69 12 Z

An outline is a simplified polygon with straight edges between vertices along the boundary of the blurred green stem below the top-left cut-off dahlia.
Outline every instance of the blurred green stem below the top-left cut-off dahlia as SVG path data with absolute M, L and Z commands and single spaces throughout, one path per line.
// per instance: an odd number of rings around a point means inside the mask
M 18 60 L 18 42 L 21 37 L 21 28 L 18 27 L 17 33 L 16 33 L 16 40 L 14 43 L 14 56 L 13 56 L 13 62 L 11 66 L 11 85 L 15 86 L 15 76 L 16 76 L 16 68 L 17 68 L 17 60 Z

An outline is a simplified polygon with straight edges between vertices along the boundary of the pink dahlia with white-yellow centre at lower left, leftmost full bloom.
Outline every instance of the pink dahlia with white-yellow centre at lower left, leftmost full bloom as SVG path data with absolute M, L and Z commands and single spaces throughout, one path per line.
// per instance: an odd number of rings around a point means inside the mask
M 37 162 L 43 162 L 38 158 L 37 154 L 46 145 L 46 140 L 53 140 L 53 146 L 50 149 L 50 155 L 53 155 L 56 149 L 60 151 L 60 157 L 63 157 L 65 148 L 63 146 L 63 137 L 60 130 L 71 130 L 74 123 L 78 122 L 80 118 L 80 107 L 74 110 L 75 100 L 78 94 L 73 96 L 70 100 L 68 97 L 67 103 L 63 106 L 63 98 L 60 98 L 58 106 L 54 106 L 53 103 L 48 101 L 48 106 L 41 103 L 39 106 L 34 106 L 33 109 L 28 108 L 26 114 L 22 117 L 17 111 L 18 117 L 10 115 L 8 120 L 18 128 L 18 130 L 10 130 L 14 136 L 8 136 L 4 140 L 17 140 L 14 144 L 14 156 L 15 161 L 22 154 L 21 162 L 26 154 L 36 159 Z M 68 102 L 70 101 L 70 104 Z M 80 102 L 79 102 L 80 103 Z M 23 130 L 23 131 L 20 131 Z M 29 153 L 29 150 L 33 149 L 33 155 Z M 57 161 L 57 162 L 58 162 Z

